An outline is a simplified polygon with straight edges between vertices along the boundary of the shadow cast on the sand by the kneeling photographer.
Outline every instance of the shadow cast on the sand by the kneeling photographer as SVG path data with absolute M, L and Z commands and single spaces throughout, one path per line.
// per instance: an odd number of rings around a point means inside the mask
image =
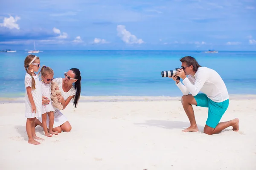
M 171 120 L 146 120 L 145 123 L 134 123 L 135 125 L 144 126 L 155 126 L 166 129 L 186 129 L 190 126 L 189 122 L 181 122 L 181 121 L 171 121 Z M 198 125 L 198 130 L 200 132 L 204 131 L 204 126 Z

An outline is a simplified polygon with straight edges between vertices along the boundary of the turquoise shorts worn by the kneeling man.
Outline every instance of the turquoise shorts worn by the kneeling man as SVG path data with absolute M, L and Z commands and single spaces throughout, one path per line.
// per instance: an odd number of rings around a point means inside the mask
M 197 106 L 208 108 L 208 118 L 206 125 L 215 128 L 221 120 L 221 117 L 227 110 L 229 99 L 223 102 L 213 102 L 206 94 L 197 94 L 194 96 Z

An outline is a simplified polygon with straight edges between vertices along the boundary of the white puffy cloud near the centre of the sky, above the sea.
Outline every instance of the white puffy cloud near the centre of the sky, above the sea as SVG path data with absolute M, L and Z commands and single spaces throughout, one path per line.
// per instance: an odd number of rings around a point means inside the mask
M 127 44 L 142 44 L 144 41 L 142 39 L 138 39 L 135 35 L 131 34 L 129 31 L 125 29 L 125 26 L 118 25 L 116 27 L 117 35 L 121 37 L 122 41 Z

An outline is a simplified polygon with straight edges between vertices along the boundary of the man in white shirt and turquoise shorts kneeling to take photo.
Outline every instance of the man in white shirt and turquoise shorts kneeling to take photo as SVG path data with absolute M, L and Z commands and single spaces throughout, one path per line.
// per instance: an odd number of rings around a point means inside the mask
M 219 123 L 229 105 L 227 88 L 220 75 L 210 68 L 201 67 L 195 58 L 191 56 L 181 58 L 180 62 L 182 62 L 182 69 L 177 70 L 176 75 L 169 78 L 176 81 L 176 85 L 184 95 L 182 96 L 181 102 L 189 118 L 190 127 L 182 131 L 198 131 L 192 105 L 208 108 L 208 118 L 204 127 L 204 133 L 212 135 L 230 126 L 233 127 L 234 131 L 238 131 L 238 118 Z M 184 85 L 177 77 L 183 79 L 182 82 Z M 198 94 L 199 91 L 202 94 Z

